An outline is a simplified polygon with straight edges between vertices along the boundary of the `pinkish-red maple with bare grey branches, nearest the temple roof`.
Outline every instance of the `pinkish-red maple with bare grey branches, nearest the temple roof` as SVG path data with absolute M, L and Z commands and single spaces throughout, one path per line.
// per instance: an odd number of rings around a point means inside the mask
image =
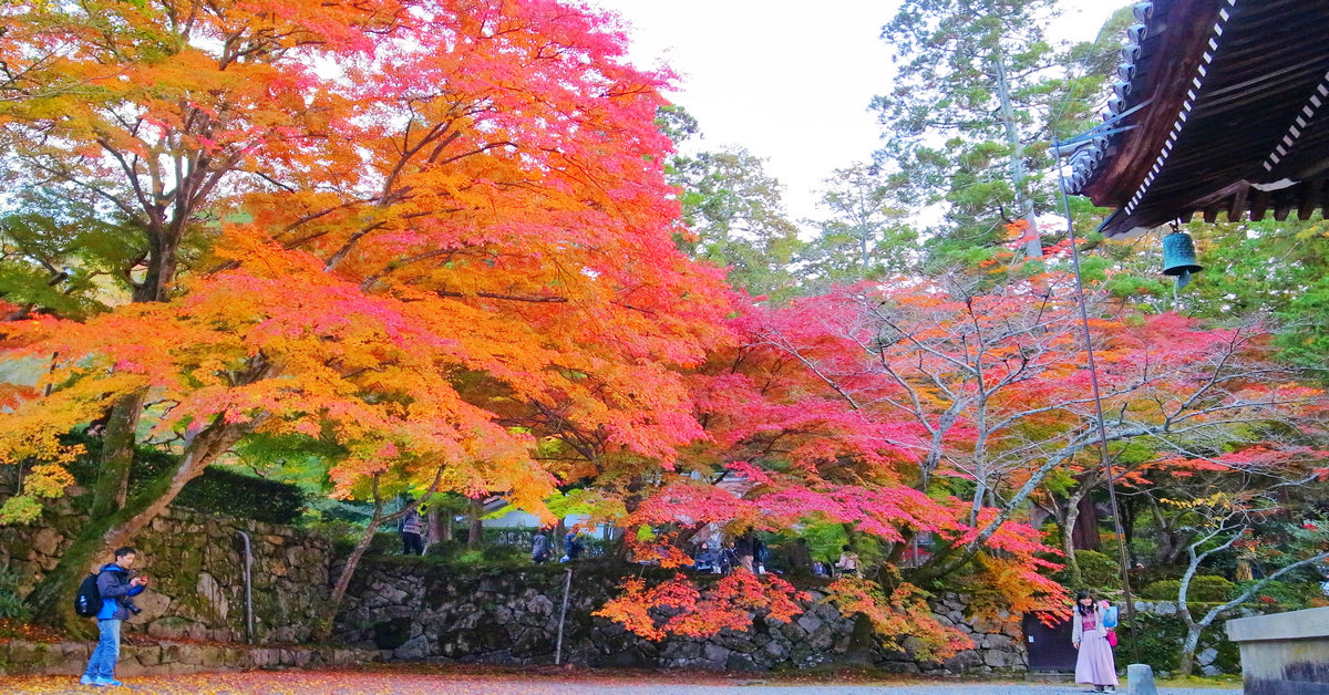
M 1065 252 L 1054 246 L 1039 267 Z M 1272 360 L 1261 323 L 1147 315 L 1111 287 L 1094 282 L 1090 311 L 1116 476 L 1278 448 L 1277 428 L 1324 435 L 1322 393 Z M 924 635 L 930 654 L 962 645 L 925 621 L 921 590 L 938 582 L 958 581 L 993 615 L 1061 606 L 1055 553 L 1027 514 L 1055 481 L 1102 468 L 1069 274 L 863 283 L 750 307 L 734 324 L 742 347 L 695 377 L 708 439 L 657 477 L 625 525 L 843 524 L 851 542 L 880 550 L 878 574 L 843 585 L 841 606 L 888 641 Z M 1156 456 L 1123 458 L 1131 447 Z

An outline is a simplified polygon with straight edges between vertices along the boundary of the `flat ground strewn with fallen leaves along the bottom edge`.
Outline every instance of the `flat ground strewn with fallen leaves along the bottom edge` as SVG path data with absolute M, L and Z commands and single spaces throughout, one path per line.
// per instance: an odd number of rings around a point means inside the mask
M 0 678 L 0 692 L 104 692 L 108 695 L 424 695 L 424 694 L 541 694 L 541 695 L 1069 695 L 1091 692 L 1086 686 L 1029 684 L 998 682 L 926 683 L 926 682 L 787 682 L 760 679 L 724 679 L 712 674 L 678 672 L 597 672 L 561 674 L 403 674 L 381 672 L 249 672 L 195 674 L 125 679 L 124 688 L 80 687 L 69 676 Z M 1126 692 L 1126 687 L 1120 688 Z M 1235 695 L 1231 690 L 1160 687 L 1159 695 Z

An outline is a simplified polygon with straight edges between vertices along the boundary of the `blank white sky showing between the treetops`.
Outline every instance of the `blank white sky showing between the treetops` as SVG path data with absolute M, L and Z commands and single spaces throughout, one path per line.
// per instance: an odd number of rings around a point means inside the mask
M 629 24 L 630 56 L 680 76 L 668 97 L 699 122 L 695 149 L 747 148 L 784 183 L 795 221 L 819 217 L 816 190 L 868 159 L 880 128 L 868 104 L 889 88 L 878 39 L 893 0 L 586 0 Z M 1054 36 L 1091 41 L 1127 0 L 1063 0 Z

